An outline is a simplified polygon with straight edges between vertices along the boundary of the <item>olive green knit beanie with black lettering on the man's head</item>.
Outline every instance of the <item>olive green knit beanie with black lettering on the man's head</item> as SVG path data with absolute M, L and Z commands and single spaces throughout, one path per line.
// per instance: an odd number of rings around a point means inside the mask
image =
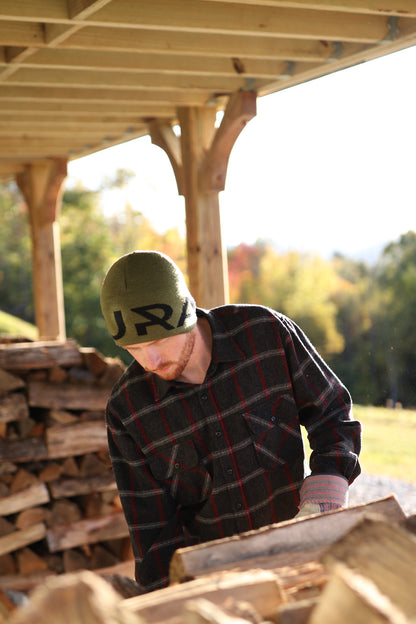
M 116 260 L 104 278 L 101 309 L 120 347 L 183 334 L 197 320 L 182 272 L 158 251 L 133 251 Z

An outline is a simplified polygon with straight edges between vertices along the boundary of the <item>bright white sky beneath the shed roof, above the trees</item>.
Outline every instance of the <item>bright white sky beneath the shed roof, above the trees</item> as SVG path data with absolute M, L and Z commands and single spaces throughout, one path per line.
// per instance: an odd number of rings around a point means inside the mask
M 415 149 L 416 47 L 258 98 L 220 194 L 224 244 L 373 261 L 416 230 Z M 95 189 L 120 168 L 135 177 L 103 208 L 129 201 L 158 231 L 185 235 L 183 197 L 149 137 L 72 161 L 67 186 Z

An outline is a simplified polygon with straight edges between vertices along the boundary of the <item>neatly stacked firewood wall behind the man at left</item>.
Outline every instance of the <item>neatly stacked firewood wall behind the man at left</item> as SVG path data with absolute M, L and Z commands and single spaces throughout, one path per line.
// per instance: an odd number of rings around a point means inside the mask
M 131 576 L 105 405 L 123 371 L 74 341 L 0 344 L 0 586 L 79 569 Z

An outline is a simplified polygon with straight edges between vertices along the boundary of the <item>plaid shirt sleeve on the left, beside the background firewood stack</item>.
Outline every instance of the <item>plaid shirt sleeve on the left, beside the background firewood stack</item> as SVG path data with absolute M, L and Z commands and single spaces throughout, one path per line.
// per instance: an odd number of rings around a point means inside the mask
M 107 407 L 107 436 L 121 504 L 135 556 L 136 580 L 144 591 L 168 584 L 169 563 L 184 545 L 180 510 L 155 480 L 140 448 Z

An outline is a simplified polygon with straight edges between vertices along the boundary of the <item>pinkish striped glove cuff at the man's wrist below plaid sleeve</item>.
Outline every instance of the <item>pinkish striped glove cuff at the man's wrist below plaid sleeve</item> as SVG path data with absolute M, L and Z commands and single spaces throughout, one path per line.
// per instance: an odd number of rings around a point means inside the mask
M 321 511 L 348 505 L 348 481 L 339 475 L 311 475 L 300 488 L 299 509 L 306 503 L 318 503 Z

